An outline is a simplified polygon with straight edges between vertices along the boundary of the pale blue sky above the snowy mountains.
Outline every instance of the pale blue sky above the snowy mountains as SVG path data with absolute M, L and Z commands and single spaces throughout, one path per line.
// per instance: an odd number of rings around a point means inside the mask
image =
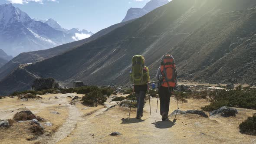
M 77 27 L 93 33 L 120 23 L 130 7 L 144 7 L 149 0 L 0 0 L 13 3 L 31 18 L 53 18 L 67 29 Z M 15 4 L 16 3 L 16 4 Z M 22 4 L 18 4 L 22 3 Z

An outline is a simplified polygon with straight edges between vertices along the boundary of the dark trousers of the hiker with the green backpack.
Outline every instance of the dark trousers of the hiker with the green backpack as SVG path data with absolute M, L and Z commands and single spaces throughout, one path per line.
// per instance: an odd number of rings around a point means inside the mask
M 135 95 L 137 98 L 137 116 L 143 116 L 144 99 L 148 85 L 135 85 Z

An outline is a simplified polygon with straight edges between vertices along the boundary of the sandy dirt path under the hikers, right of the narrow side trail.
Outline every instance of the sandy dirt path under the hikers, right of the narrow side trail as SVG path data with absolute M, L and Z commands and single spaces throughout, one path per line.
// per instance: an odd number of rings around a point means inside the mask
M 142 120 L 135 118 L 135 109 L 130 119 L 129 108 L 116 106 L 108 111 L 101 109 L 83 117 L 72 133 L 58 144 L 251 144 L 256 141 L 256 137 L 240 134 L 238 129 L 238 125 L 255 110 L 238 109 L 240 114 L 231 118 L 177 115 L 176 120 L 171 117 L 170 121 L 161 121 L 160 114 L 156 113 L 156 101 L 156 98 L 151 100 L 152 115 L 146 103 Z M 208 104 L 206 100 L 194 99 L 188 99 L 188 103 L 179 103 L 181 110 L 200 110 L 201 106 Z M 170 112 L 176 106 L 176 101 L 172 99 Z M 114 131 L 121 135 L 110 136 Z

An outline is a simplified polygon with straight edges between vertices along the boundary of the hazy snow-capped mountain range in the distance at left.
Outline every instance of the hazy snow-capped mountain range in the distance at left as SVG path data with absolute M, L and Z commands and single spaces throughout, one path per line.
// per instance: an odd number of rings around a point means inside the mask
M 53 19 L 31 19 L 18 7 L 0 5 L 0 49 L 8 55 L 49 49 L 64 43 L 85 39 L 92 32 L 78 28 L 65 29 Z

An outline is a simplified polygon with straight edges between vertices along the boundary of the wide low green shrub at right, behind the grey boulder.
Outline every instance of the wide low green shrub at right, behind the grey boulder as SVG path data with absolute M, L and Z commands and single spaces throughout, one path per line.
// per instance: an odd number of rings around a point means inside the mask
M 237 87 L 236 90 L 215 90 L 209 93 L 212 103 L 202 107 L 204 111 L 213 111 L 223 106 L 256 109 L 256 89 Z

